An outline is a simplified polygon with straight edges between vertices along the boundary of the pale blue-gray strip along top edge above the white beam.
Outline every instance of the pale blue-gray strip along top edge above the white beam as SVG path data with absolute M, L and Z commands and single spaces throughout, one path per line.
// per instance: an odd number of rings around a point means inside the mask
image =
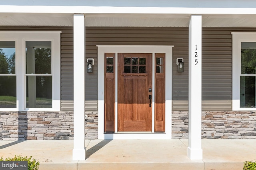
M 114 6 L 114 7 L 182 7 L 182 8 L 250 8 L 255 0 L 1 0 L 13 6 Z

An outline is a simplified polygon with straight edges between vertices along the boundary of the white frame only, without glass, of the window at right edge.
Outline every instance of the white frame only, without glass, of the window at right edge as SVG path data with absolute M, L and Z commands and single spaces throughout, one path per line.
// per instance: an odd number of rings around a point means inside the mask
M 255 107 L 240 107 L 241 42 L 256 42 L 256 33 L 232 32 L 232 110 L 255 111 Z

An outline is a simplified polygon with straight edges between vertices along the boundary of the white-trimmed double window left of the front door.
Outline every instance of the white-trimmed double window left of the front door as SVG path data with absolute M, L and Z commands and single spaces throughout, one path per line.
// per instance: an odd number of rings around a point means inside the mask
M 60 110 L 60 32 L 0 31 L 0 110 Z

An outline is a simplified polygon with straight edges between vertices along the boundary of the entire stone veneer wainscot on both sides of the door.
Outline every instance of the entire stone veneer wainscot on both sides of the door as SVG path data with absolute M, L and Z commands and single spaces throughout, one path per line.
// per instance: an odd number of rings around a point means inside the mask
M 85 138 L 98 139 L 98 112 L 86 111 Z M 73 139 L 72 111 L 0 111 L 0 140 Z M 172 139 L 188 139 L 188 111 L 172 111 Z M 202 111 L 202 139 L 256 139 L 256 112 Z

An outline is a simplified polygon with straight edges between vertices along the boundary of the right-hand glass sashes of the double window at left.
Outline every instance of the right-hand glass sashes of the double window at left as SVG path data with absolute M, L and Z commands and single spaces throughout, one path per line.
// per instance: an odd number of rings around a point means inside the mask
M 26 41 L 26 108 L 52 108 L 51 41 Z

